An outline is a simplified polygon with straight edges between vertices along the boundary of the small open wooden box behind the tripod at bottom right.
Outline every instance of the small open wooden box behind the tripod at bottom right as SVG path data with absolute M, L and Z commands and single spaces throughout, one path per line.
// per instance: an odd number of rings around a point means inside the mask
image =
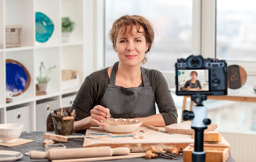
M 194 144 L 183 150 L 183 162 L 192 162 Z M 219 144 L 204 144 L 205 162 L 226 162 L 229 158 L 229 146 Z

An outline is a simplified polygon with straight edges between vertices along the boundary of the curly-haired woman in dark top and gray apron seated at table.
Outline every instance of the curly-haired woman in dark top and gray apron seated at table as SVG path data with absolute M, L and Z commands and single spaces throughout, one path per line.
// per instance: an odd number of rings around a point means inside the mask
M 102 121 L 110 114 L 141 120 L 141 126 L 177 123 L 177 109 L 164 76 L 141 67 L 154 40 L 150 22 L 142 16 L 122 16 L 112 25 L 109 36 L 119 62 L 85 78 L 70 108 L 76 110 L 73 131 L 104 126 Z

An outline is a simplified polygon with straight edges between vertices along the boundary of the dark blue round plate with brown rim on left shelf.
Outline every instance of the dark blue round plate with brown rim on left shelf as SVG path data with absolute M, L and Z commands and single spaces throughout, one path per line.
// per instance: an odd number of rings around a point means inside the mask
M 27 69 L 18 61 L 6 60 L 6 90 L 17 96 L 24 93 L 29 84 L 30 76 Z

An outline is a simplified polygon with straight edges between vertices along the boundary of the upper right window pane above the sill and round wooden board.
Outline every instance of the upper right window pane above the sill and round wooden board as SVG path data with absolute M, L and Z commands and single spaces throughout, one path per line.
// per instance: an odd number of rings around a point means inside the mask
M 252 0 L 217 1 L 217 58 L 256 62 L 255 6 Z

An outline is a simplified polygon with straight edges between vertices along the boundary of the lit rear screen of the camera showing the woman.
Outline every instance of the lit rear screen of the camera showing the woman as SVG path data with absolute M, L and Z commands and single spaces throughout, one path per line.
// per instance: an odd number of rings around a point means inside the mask
M 178 69 L 178 91 L 209 91 L 209 69 Z

